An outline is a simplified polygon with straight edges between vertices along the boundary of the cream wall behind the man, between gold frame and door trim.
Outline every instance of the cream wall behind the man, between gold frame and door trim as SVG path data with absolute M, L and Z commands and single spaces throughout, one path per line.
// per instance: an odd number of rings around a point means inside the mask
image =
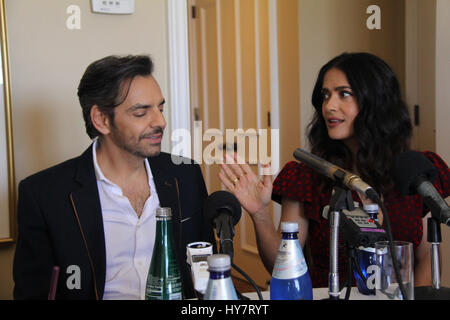
M 66 27 L 69 5 L 81 9 L 80 30 Z M 93 14 L 88 0 L 6 0 L 6 16 L 17 183 L 89 146 L 77 87 L 96 59 L 151 54 L 170 118 L 166 0 L 136 0 L 135 14 L 122 16 Z M 0 247 L 0 299 L 12 298 L 13 254 Z

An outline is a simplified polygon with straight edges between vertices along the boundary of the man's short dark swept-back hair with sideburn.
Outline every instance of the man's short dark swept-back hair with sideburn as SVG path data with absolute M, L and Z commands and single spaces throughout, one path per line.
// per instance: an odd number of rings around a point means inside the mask
M 87 67 L 78 86 L 78 98 L 91 139 L 100 135 L 91 121 L 92 107 L 97 105 L 114 121 L 114 108 L 127 98 L 134 77 L 149 76 L 152 72 L 153 62 L 146 55 L 108 56 Z

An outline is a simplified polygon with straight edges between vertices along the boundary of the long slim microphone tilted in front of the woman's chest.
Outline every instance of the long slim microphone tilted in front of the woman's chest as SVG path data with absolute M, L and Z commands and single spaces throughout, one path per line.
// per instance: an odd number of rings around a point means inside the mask
M 376 191 L 356 174 L 348 172 L 337 165 L 300 148 L 294 151 L 294 157 L 328 178 L 342 183 L 351 190 L 365 194 L 372 201 L 378 202 L 379 196 Z

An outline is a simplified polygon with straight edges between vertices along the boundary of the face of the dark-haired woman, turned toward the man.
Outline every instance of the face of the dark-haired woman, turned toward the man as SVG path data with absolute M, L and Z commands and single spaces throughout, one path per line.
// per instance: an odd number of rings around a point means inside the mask
M 345 73 L 332 68 L 325 73 L 322 85 L 322 115 L 333 140 L 342 140 L 353 144 L 353 124 L 359 112 L 358 103 L 353 95 Z

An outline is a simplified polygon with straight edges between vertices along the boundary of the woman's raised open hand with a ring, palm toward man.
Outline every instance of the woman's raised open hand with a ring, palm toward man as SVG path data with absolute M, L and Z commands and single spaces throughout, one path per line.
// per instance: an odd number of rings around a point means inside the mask
M 270 164 L 263 166 L 263 176 L 260 179 L 250 166 L 237 161 L 237 155 L 225 155 L 225 163 L 220 165 L 219 179 L 239 200 L 245 210 L 257 218 L 269 212 L 272 196 L 272 178 Z M 266 173 L 266 174 L 265 174 Z

